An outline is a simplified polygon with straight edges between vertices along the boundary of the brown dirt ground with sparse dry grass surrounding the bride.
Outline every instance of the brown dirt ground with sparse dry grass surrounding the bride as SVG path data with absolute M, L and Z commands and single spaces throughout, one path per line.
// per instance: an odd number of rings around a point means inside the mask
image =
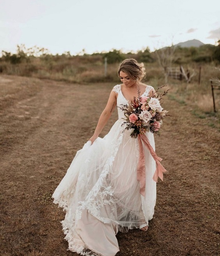
M 0 255 L 66 256 L 51 194 L 90 138 L 114 84 L 75 85 L 0 76 Z M 133 256 L 215 256 L 220 252 L 219 132 L 166 98 L 173 117 L 156 151 L 169 170 L 158 182 L 149 231 L 117 235 Z M 116 111 L 105 135 L 117 118 Z

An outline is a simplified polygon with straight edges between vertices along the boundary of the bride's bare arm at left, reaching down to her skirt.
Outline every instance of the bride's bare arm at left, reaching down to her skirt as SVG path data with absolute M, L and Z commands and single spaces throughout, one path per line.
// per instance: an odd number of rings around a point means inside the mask
M 112 115 L 112 112 L 113 112 L 116 104 L 117 104 L 117 93 L 112 91 L 110 93 L 108 103 L 107 103 L 105 109 L 103 110 L 103 112 L 101 113 L 101 116 L 99 117 L 99 121 L 96 126 L 96 130 L 95 130 L 94 134 L 92 135 L 92 137 L 89 139 L 89 140 L 91 140 L 92 143 L 98 138 L 99 134 L 101 133 L 101 131 L 104 128 L 105 124 L 107 123 L 108 119 Z

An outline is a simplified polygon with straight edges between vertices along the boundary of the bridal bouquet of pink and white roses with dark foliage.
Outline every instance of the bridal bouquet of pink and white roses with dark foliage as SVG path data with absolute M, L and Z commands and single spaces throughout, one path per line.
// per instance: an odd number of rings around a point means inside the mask
M 121 107 L 119 107 L 124 111 L 125 118 L 123 119 L 125 121 L 123 124 L 126 124 L 125 129 L 133 129 L 131 137 L 137 138 L 139 133 L 144 134 L 145 132 L 152 132 L 160 135 L 162 120 L 167 116 L 168 112 L 161 107 L 160 100 L 169 91 L 168 89 L 159 94 L 158 90 L 160 88 L 157 89 L 152 97 L 141 97 L 140 89 L 138 88 L 137 99 L 134 97 L 131 103 L 128 105 L 122 104 Z

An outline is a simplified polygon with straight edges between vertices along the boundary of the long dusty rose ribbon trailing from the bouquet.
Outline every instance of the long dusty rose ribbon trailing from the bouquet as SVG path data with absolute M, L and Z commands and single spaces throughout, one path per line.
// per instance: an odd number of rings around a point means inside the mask
M 154 158 L 156 162 L 156 171 L 154 172 L 153 180 L 157 182 L 158 177 L 163 180 L 163 172 L 167 172 L 166 169 L 161 165 L 160 158 L 154 149 L 152 148 L 149 140 L 147 139 L 145 134 L 138 134 L 138 144 L 139 144 L 139 161 L 138 161 L 138 168 L 137 168 L 137 180 L 140 181 L 140 194 L 145 196 L 145 161 L 144 161 L 144 148 L 143 144 L 147 147 L 150 151 L 151 156 Z

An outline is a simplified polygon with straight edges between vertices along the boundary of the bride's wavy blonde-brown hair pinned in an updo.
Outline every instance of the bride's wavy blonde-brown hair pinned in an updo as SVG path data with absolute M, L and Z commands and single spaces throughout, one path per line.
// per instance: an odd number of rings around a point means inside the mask
M 144 63 L 138 63 L 135 59 L 123 60 L 118 69 L 118 75 L 120 77 L 120 71 L 126 73 L 128 77 L 132 80 L 138 79 L 141 81 L 145 76 Z

